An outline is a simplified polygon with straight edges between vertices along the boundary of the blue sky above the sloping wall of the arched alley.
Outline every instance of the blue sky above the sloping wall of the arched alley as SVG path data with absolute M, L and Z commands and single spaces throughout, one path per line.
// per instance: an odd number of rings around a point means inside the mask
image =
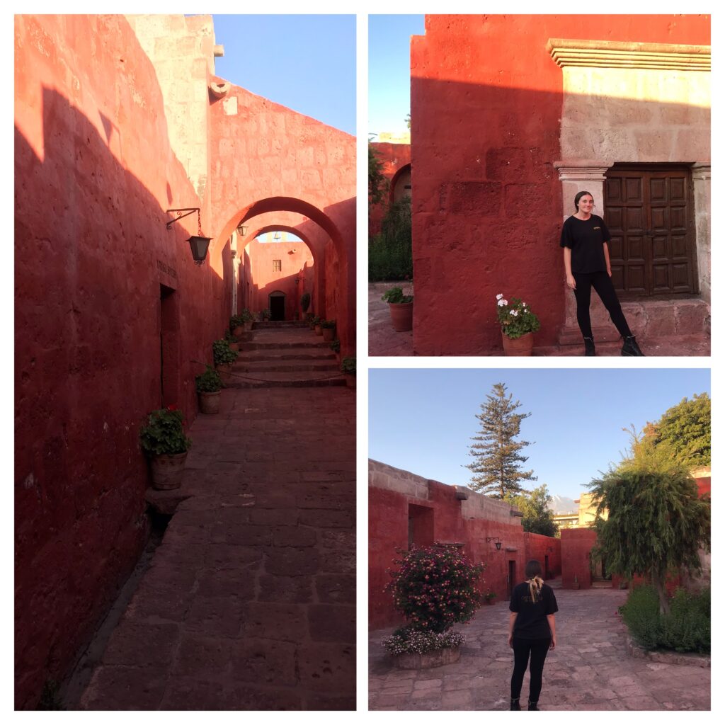
M 213 15 L 235 86 L 355 135 L 355 15 Z

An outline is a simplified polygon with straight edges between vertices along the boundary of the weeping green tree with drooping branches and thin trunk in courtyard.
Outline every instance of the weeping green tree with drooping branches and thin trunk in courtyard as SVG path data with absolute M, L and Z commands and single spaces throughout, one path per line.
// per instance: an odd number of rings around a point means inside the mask
M 698 552 L 710 545 L 710 502 L 697 496 L 671 445 L 634 431 L 632 437 L 629 455 L 589 484 L 597 506 L 592 558 L 605 558 L 608 571 L 627 579 L 649 576 L 660 612 L 668 613 L 668 574 L 701 569 Z

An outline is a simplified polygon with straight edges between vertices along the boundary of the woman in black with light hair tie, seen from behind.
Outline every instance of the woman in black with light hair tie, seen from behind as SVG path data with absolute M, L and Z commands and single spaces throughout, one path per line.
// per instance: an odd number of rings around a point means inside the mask
M 550 649 L 556 647 L 554 613 L 559 610 L 554 590 L 544 584 L 542 565 L 537 560 L 526 564 L 526 581 L 518 584 L 511 594 L 508 624 L 508 646 L 513 647 L 513 675 L 511 675 L 511 710 L 521 710 L 518 698 L 526 666 L 531 657 L 529 683 L 529 710 L 538 710 L 542 690 L 544 660 Z

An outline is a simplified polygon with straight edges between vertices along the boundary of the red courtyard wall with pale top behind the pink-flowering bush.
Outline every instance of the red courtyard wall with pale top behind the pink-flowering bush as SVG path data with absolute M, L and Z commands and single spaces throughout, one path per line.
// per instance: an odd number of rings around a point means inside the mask
M 368 602 L 370 629 L 402 624 L 384 592 L 387 569 L 394 568 L 397 549 L 408 546 L 408 514 L 415 516 L 413 542 L 463 542 L 463 552 L 476 563 L 484 563 L 483 589 L 496 592 L 494 602 L 507 600 L 509 561 L 515 562 L 515 582 L 523 581 L 523 568 L 531 552 L 547 545 L 558 549 L 558 541 L 525 534 L 521 518 L 510 516 L 510 507 L 481 494 L 468 492 L 469 499 L 456 498 L 455 486 L 429 481 L 408 471 L 369 462 L 368 488 Z M 500 551 L 486 537 L 498 537 Z M 527 539 L 528 537 L 528 539 Z M 532 538 L 533 537 L 533 538 Z M 542 559 L 543 563 L 543 559 Z M 505 605 L 505 603 L 504 603 Z

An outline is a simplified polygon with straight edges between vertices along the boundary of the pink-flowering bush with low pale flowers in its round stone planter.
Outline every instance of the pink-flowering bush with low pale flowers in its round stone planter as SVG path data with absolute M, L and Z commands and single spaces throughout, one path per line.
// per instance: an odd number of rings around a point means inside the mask
M 383 642 L 395 664 L 405 669 L 438 667 L 460 658 L 463 634 L 451 631 L 471 621 L 481 606 L 479 580 L 483 566 L 474 565 L 454 546 L 417 547 L 402 552 L 390 571 L 394 607 L 408 624 Z

